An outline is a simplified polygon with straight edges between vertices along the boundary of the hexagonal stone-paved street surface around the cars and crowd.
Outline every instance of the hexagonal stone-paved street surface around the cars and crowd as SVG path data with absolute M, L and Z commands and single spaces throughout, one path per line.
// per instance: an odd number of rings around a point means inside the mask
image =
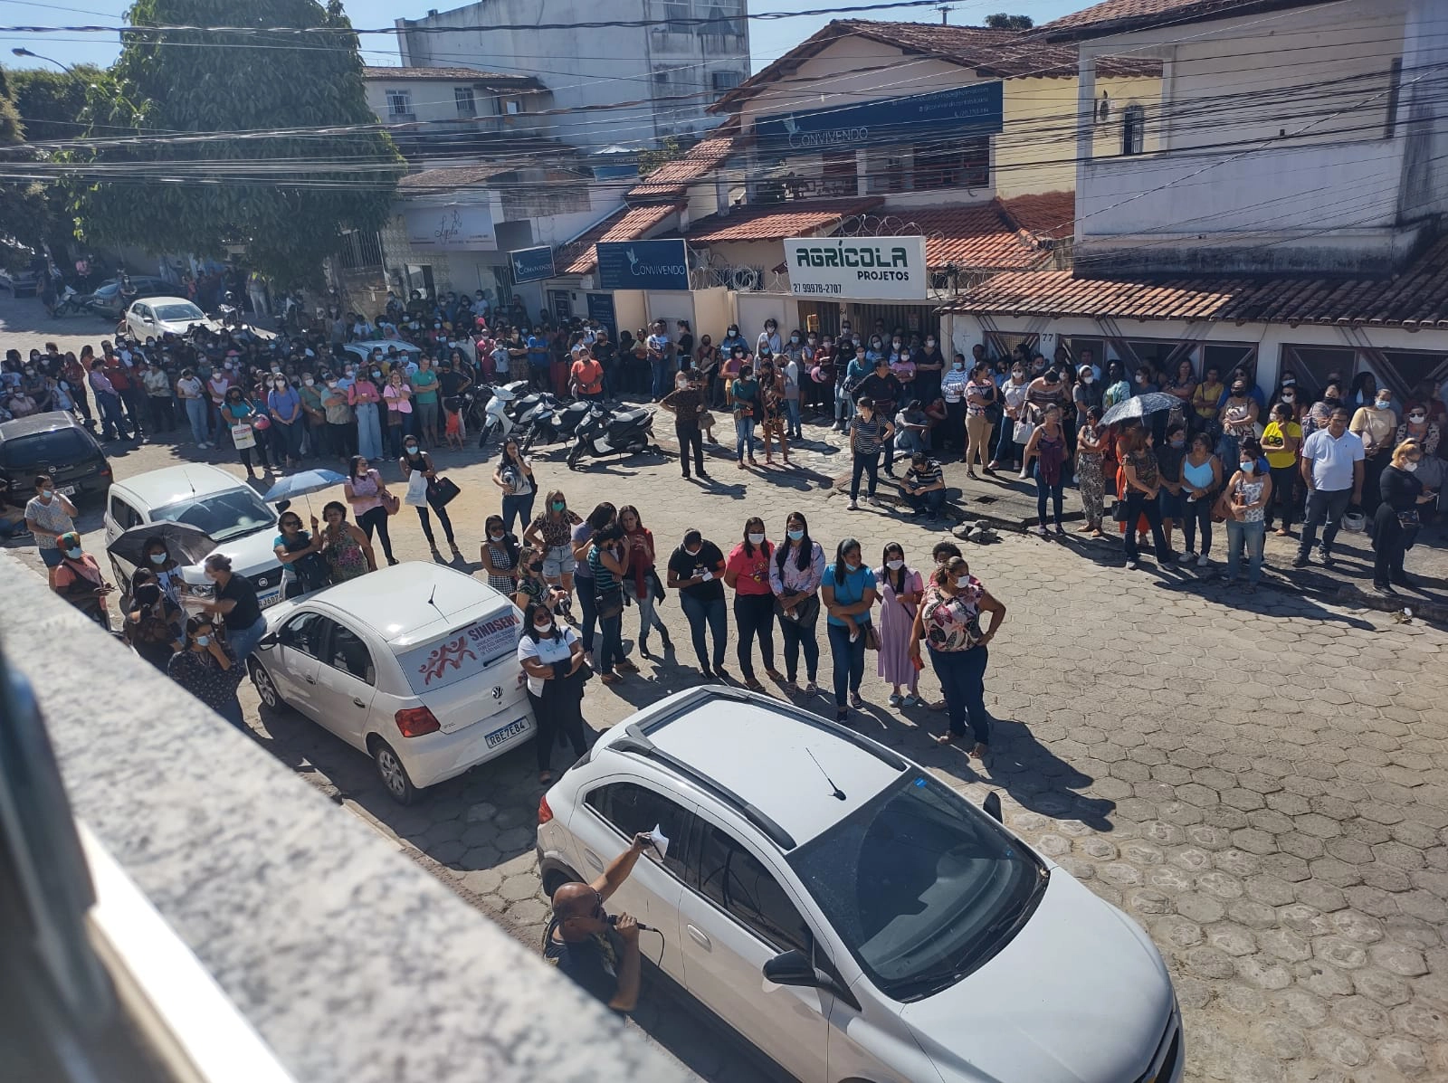
M 0 333 L 0 347 L 32 342 Z M 126 476 L 188 450 L 145 446 L 114 465 Z M 439 456 L 463 489 L 452 511 L 469 555 L 497 502 L 471 458 Z M 822 488 L 831 456 L 818 458 L 809 473 L 769 481 L 714 459 L 712 491 L 644 458 L 572 475 L 544 460 L 539 476 L 578 505 L 637 504 L 663 549 L 695 524 L 727 549 L 746 515 L 778 533 L 801 508 L 827 544 L 853 534 L 877 557 L 899 540 L 912 563 L 928 563 L 941 534 L 846 511 Z M 401 557 L 424 557 L 405 510 L 394 537 Z M 1280 591 L 1241 597 L 1127 573 L 1119 556 L 1086 552 L 1006 536 L 967 553 L 1009 607 L 986 676 L 998 720 L 988 767 L 928 740 L 941 715 L 883 707 L 889 689 L 873 676 L 853 725 L 973 801 L 1001 792 L 1008 824 L 1148 930 L 1184 1012 L 1189 1080 L 1448 1077 L 1448 636 Z M 678 653 L 639 659 L 641 673 L 613 689 L 592 682 L 592 725 L 696 683 L 673 598 L 662 615 Z M 828 652 L 822 666 L 827 683 Z M 938 695 L 928 672 L 924 688 Z M 258 717 L 249 686 L 243 702 L 282 762 L 537 943 L 531 749 L 401 809 L 366 757 L 295 714 Z M 767 1074 L 660 998 L 646 995 L 637 1019 L 707 1079 Z

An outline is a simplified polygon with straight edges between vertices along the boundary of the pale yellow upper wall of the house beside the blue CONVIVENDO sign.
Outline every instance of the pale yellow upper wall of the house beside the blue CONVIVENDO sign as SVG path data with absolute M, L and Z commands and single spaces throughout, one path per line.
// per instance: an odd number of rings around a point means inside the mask
M 1096 101 L 1111 101 L 1106 120 L 1095 123 L 1096 158 L 1121 153 L 1121 125 L 1127 106 L 1147 110 L 1145 149 L 1157 136 L 1161 80 L 1151 77 L 1096 78 Z M 995 190 L 1001 198 L 1076 190 L 1076 80 L 1030 78 L 1005 81 L 1005 130 L 995 138 Z

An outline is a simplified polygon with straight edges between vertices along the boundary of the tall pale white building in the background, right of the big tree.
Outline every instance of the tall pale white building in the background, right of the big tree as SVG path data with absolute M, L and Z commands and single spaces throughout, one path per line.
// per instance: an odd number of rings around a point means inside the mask
M 747 10 L 749 0 L 479 0 L 397 28 L 404 65 L 539 75 L 560 110 L 550 135 L 637 151 L 715 126 L 708 106 L 749 77 Z

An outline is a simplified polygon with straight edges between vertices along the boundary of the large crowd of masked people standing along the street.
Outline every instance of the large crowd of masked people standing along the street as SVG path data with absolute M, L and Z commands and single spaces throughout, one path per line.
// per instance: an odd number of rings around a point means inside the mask
M 61 353 L 54 343 L 29 358 L 10 350 L 0 366 L 0 418 L 71 410 L 87 423 L 98 420 L 101 437 L 116 440 L 169 440 L 185 426 L 201 449 L 230 443 L 252 476 L 258 468 L 297 469 L 307 459 L 345 463 L 345 500 L 327 502 L 320 521 L 304 523 L 290 508 L 279 518 L 275 552 L 287 592 L 300 594 L 375 570 L 374 540 L 381 557 L 397 563 L 390 520 L 403 501 L 382 476 L 384 456 L 397 462 L 433 556 L 440 557 L 436 515 L 453 559 L 462 557 L 446 500 L 437 498 L 446 479 L 432 452 L 462 446 L 469 388 L 508 379 L 559 395 L 631 392 L 659 403 L 673 416 L 685 478 L 708 478 L 702 444 L 705 434 L 714 437 L 711 411 L 733 416 L 741 471 L 760 466 L 756 450 L 765 453 L 763 466 L 772 466 L 776 444 L 779 465 L 789 468 L 791 442 L 802 439 L 802 423 L 812 417 L 847 434 L 850 510 L 862 495 L 879 501 L 883 472 L 914 515 L 937 520 L 947 494 L 941 463 L 959 455 L 973 481 L 1016 471 L 1018 479 L 1034 481 L 1041 534 L 1064 533 L 1064 489 L 1076 486 L 1080 531 L 1103 537 L 1111 486 L 1129 569 L 1140 566 L 1148 543 L 1158 565 L 1205 569 L 1221 526 L 1221 575 L 1245 579 L 1244 591 L 1260 579 L 1268 530 L 1289 536 L 1300 524 L 1295 565 L 1316 553 L 1331 566 L 1338 530 L 1354 514 L 1371 531 L 1376 588 L 1392 594 L 1409 583 L 1405 553 L 1439 510 L 1441 456 L 1448 450 L 1439 439 L 1448 418 L 1436 388 L 1423 384 L 1397 403 L 1370 374 L 1351 385 L 1329 376 L 1312 400 L 1292 375 L 1264 394 L 1245 368 L 1225 379 L 1215 366 L 1197 378 L 1189 362 L 1173 374 L 1150 365 L 1128 374 L 1118 361 L 1099 365 L 1090 350 L 1047 361 L 1022 347 L 992 359 L 979 345 L 970 359 L 947 358 L 934 336 L 889 332 L 882 321 L 866 334 L 849 324 L 837 334 L 785 334 L 767 320 L 753 337 L 731 324 L 718 343 L 710 334 L 695 339 L 686 321 L 672 329 L 656 321 L 613 343 L 595 321 L 555 323 L 547 313 L 530 320 L 517 301 L 494 308 L 481 291 L 432 300 L 414 292 L 407 301 L 390 295 L 375 317 L 333 304 L 316 317 L 301 311 L 269 337 L 195 330 L 159 340 L 106 340 L 98 355 L 90 347 L 80 356 Z M 1176 401 L 1102 424 L 1114 405 L 1154 392 Z M 895 475 L 896 462 L 904 463 L 902 476 Z M 614 685 L 637 672 L 623 646 L 630 605 L 639 611 L 637 653 L 652 656 L 654 633 L 670 650 L 657 604 L 673 591 L 707 678 L 731 679 L 724 641 L 733 608 L 736 663 L 746 686 L 762 688 L 762 670 L 791 694 L 818 694 L 822 610 L 841 718 L 863 702 L 866 650 L 877 652 L 889 701 L 902 707 L 918 702 L 918 672 L 928 654 L 946 688 L 950 734 L 963 736 L 969 724 L 977 750 L 988 744 L 979 699 L 985 644 L 1003 610 L 969 576 L 953 544 L 937 546 L 925 570 L 909 566 L 899 544 L 886 547 L 879 562 L 866 560 L 853 539 L 837 543 L 827 559 L 804 514 L 794 513 L 773 542 L 766 524 L 750 518 L 734 544 L 689 531 L 663 553 L 636 507 L 599 502 L 582 517 L 553 491 L 534 514 L 533 463 L 515 437 L 505 440 L 491 479 L 501 514 L 485 523 L 482 572 L 527 614 L 523 662 L 530 692 L 569 740 L 581 734 L 581 721 L 555 708 L 572 701 L 576 712 L 576 698 L 560 696 L 550 680 L 571 678 L 571 686 L 581 688 L 586 673 L 597 672 Z M 41 476 L 25 505 L 25 528 L 51 569 L 52 586 L 104 620 L 104 599 L 114 588 L 80 552 L 74 514 Z M 246 627 L 224 611 L 209 614 L 220 618 L 220 630 L 182 620 L 167 575 L 175 562 L 164 547 L 152 556 L 156 565 L 139 569 L 129 588 L 127 637 L 149 660 L 165 660 L 197 686 L 230 683 L 235 698 L 233 676 L 239 680 L 252 631 L 261 627 L 259 611 L 252 618 L 242 607 L 242 618 L 251 618 Z M 217 569 L 217 579 L 227 573 Z M 995 623 L 982 630 L 985 612 Z M 776 666 L 776 624 L 783 672 Z M 540 741 L 540 749 L 547 744 Z M 540 770 L 547 770 L 546 762 Z

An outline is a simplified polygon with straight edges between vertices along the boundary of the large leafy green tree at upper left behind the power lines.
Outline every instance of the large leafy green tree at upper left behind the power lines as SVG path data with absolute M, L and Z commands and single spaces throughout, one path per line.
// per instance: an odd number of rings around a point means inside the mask
M 295 285 L 316 281 L 345 229 L 382 226 L 404 164 L 375 127 L 337 0 L 136 0 L 130 23 L 329 32 L 129 30 L 88 91 L 78 236 L 207 256 L 242 243 Z M 319 132 L 332 127 L 349 130 Z

